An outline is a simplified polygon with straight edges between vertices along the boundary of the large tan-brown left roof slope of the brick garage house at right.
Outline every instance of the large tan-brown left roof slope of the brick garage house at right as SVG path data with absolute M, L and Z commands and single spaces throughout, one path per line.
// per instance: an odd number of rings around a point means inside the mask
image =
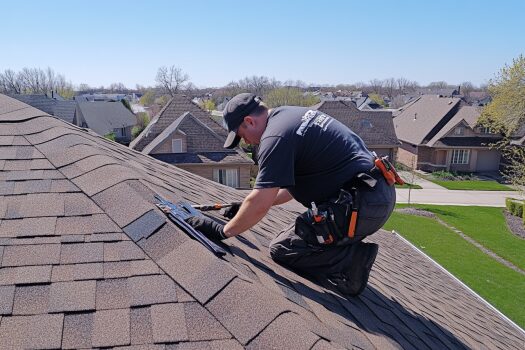
M 419 145 L 429 140 L 452 118 L 461 99 L 423 95 L 401 107 L 394 118 L 397 137 Z

